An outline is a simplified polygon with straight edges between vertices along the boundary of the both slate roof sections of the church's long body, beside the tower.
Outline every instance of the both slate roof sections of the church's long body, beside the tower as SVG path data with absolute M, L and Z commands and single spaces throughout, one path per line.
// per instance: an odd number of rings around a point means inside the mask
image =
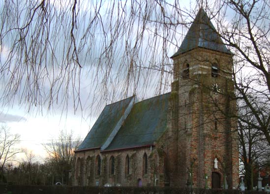
M 132 103 L 131 111 L 104 151 L 152 145 L 157 141 L 167 127 L 169 97 L 167 93 Z M 77 151 L 102 147 L 133 98 L 107 105 Z

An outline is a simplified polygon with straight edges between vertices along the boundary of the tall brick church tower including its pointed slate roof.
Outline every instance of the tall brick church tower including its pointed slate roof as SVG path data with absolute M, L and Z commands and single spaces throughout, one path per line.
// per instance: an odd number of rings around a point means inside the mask
M 171 186 L 238 186 L 232 56 L 201 8 L 179 50 L 171 57 L 173 135 L 167 153 Z

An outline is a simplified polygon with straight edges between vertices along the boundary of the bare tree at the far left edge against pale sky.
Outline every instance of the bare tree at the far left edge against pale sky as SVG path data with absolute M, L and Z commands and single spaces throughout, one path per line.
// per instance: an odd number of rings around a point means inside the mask
M 21 150 L 16 146 L 20 142 L 19 134 L 12 134 L 10 128 L 0 127 L 0 173 L 3 175 L 4 166 L 7 162 L 14 160 L 16 154 Z

